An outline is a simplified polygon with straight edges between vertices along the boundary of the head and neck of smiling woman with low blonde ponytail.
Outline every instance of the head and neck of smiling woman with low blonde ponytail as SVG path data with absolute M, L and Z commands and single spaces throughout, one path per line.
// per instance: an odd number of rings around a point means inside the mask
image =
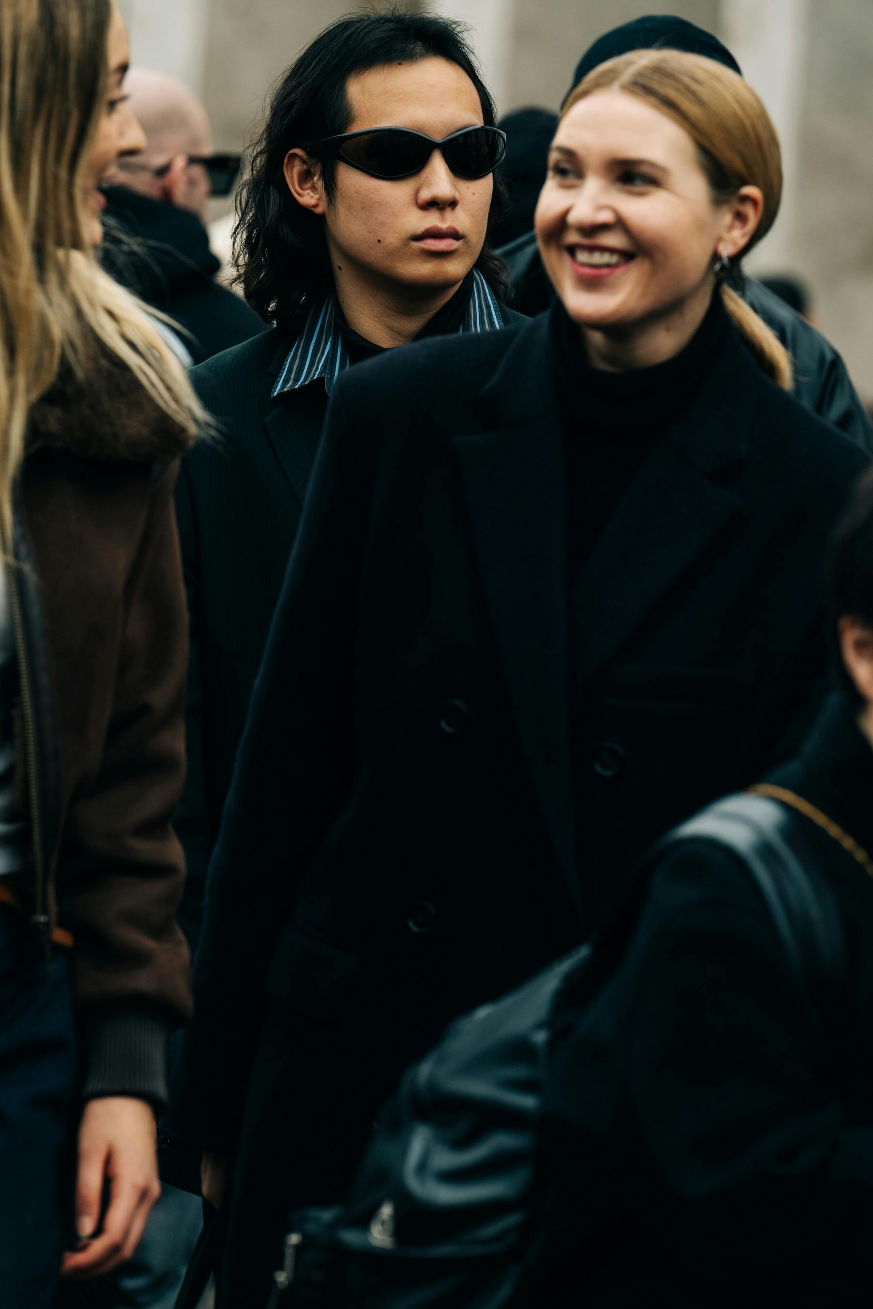
M 601 148 L 602 128 L 618 154 Z M 791 391 L 785 347 L 726 281 L 776 221 L 781 191 L 779 139 L 738 73 L 664 50 L 593 69 L 561 110 L 535 221 L 548 276 L 599 367 L 675 353 L 715 278 L 739 335 Z M 618 339 L 635 344 L 624 353 Z

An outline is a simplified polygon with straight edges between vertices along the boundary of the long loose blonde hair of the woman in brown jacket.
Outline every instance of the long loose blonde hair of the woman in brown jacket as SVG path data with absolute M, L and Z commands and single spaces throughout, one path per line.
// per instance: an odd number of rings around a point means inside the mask
M 0 518 L 27 416 L 62 363 L 124 364 L 194 432 L 203 411 L 143 306 L 88 242 L 85 170 L 105 113 L 111 0 L 0 0 Z

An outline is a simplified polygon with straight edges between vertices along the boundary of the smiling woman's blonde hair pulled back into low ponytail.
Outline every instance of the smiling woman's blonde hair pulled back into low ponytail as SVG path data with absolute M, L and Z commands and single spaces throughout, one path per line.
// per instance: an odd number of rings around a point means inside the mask
M 698 147 L 716 200 L 730 199 L 742 186 L 760 187 L 764 196 L 760 223 L 742 253 L 747 254 L 767 236 L 781 202 L 781 151 L 760 98 L 738 73 L 703 55 L 635 50 L 593 68 L 567 97 L 561 118 L 598 90 L 639 96 L 685 128 Z M 721 296 L 763 370 L 789 391 L 793 370 L 783 343 L 725 283 Z

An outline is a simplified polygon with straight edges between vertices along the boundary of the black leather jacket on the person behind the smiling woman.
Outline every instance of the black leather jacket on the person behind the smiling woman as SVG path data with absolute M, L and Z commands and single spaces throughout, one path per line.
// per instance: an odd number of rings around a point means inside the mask
M 512 308 L 534 314 L 547 308 L 551 287 L 533 232 L 499 251 L 509 268 L 514 297 Z M 838 427 L 868 454 L 873 454 L 873 424 L 849 381 L 846 364 L 825 338 L 791 305 L 753 278 L 737 287 L 746 304 L 772 327 L 794 361 L 794 395 Z

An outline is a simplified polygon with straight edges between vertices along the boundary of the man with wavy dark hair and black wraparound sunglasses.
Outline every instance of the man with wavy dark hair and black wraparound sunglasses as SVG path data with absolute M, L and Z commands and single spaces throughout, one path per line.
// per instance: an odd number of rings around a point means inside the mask
M 177 493 L 192 620 L 178 816 L 192 937 L 338 376 L 412 339 L 522 321 L 501 304 L 487 246 L 503 148 L 463 31 L 444 18 L 343 18 L 274 94 L 236 233 L 246 298 L 274 329 L 195 370 L 220 439 L 191 452 Z

